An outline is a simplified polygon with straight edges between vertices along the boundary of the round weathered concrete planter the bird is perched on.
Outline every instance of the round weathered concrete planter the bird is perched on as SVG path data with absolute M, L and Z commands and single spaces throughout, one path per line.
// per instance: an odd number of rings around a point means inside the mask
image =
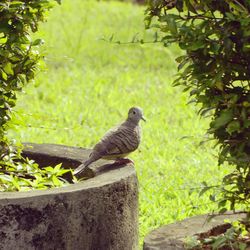
M 60 159 L 76 167 L 88 154 L 59 145 L 33 146 L 34 159 L 52 165 Z M 34 153 L 42 148 L 40 156 Z M 138 184 L 133 165 L 64 188 L 0 193 L 1 250 L 137 250 L 137 243 Z

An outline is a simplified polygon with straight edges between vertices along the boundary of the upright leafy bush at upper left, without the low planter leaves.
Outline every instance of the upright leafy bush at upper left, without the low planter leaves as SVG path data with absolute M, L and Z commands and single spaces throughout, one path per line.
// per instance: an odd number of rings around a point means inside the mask
M 0 4 L 0 140 L 7 144 L 4 132 L 16 103 L 16 93 L 34 78 L 41 57 L 37 47 L 41 39 L 32 41 L 39 21 L 52 7 L 48 1 L 1 1 Z M 2 145 L 3 146 L 3 145 Z M 1 153 L 5 151 L 2 147 Z

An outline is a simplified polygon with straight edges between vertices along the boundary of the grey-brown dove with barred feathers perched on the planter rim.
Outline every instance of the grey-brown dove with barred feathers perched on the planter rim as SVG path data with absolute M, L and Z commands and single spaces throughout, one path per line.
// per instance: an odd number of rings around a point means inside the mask
M 139 125 L 141 120 L 146 121 L 142 109 L 140 107 L 130 108 L 127 119 L 110 129 L 102 137 L 92 149 L 89 158 L 74 170 L 74 175 L 81 173 L 87 166 L 99 159 L 119 162 L 135 151 L 141 142 L 141 127 Z

